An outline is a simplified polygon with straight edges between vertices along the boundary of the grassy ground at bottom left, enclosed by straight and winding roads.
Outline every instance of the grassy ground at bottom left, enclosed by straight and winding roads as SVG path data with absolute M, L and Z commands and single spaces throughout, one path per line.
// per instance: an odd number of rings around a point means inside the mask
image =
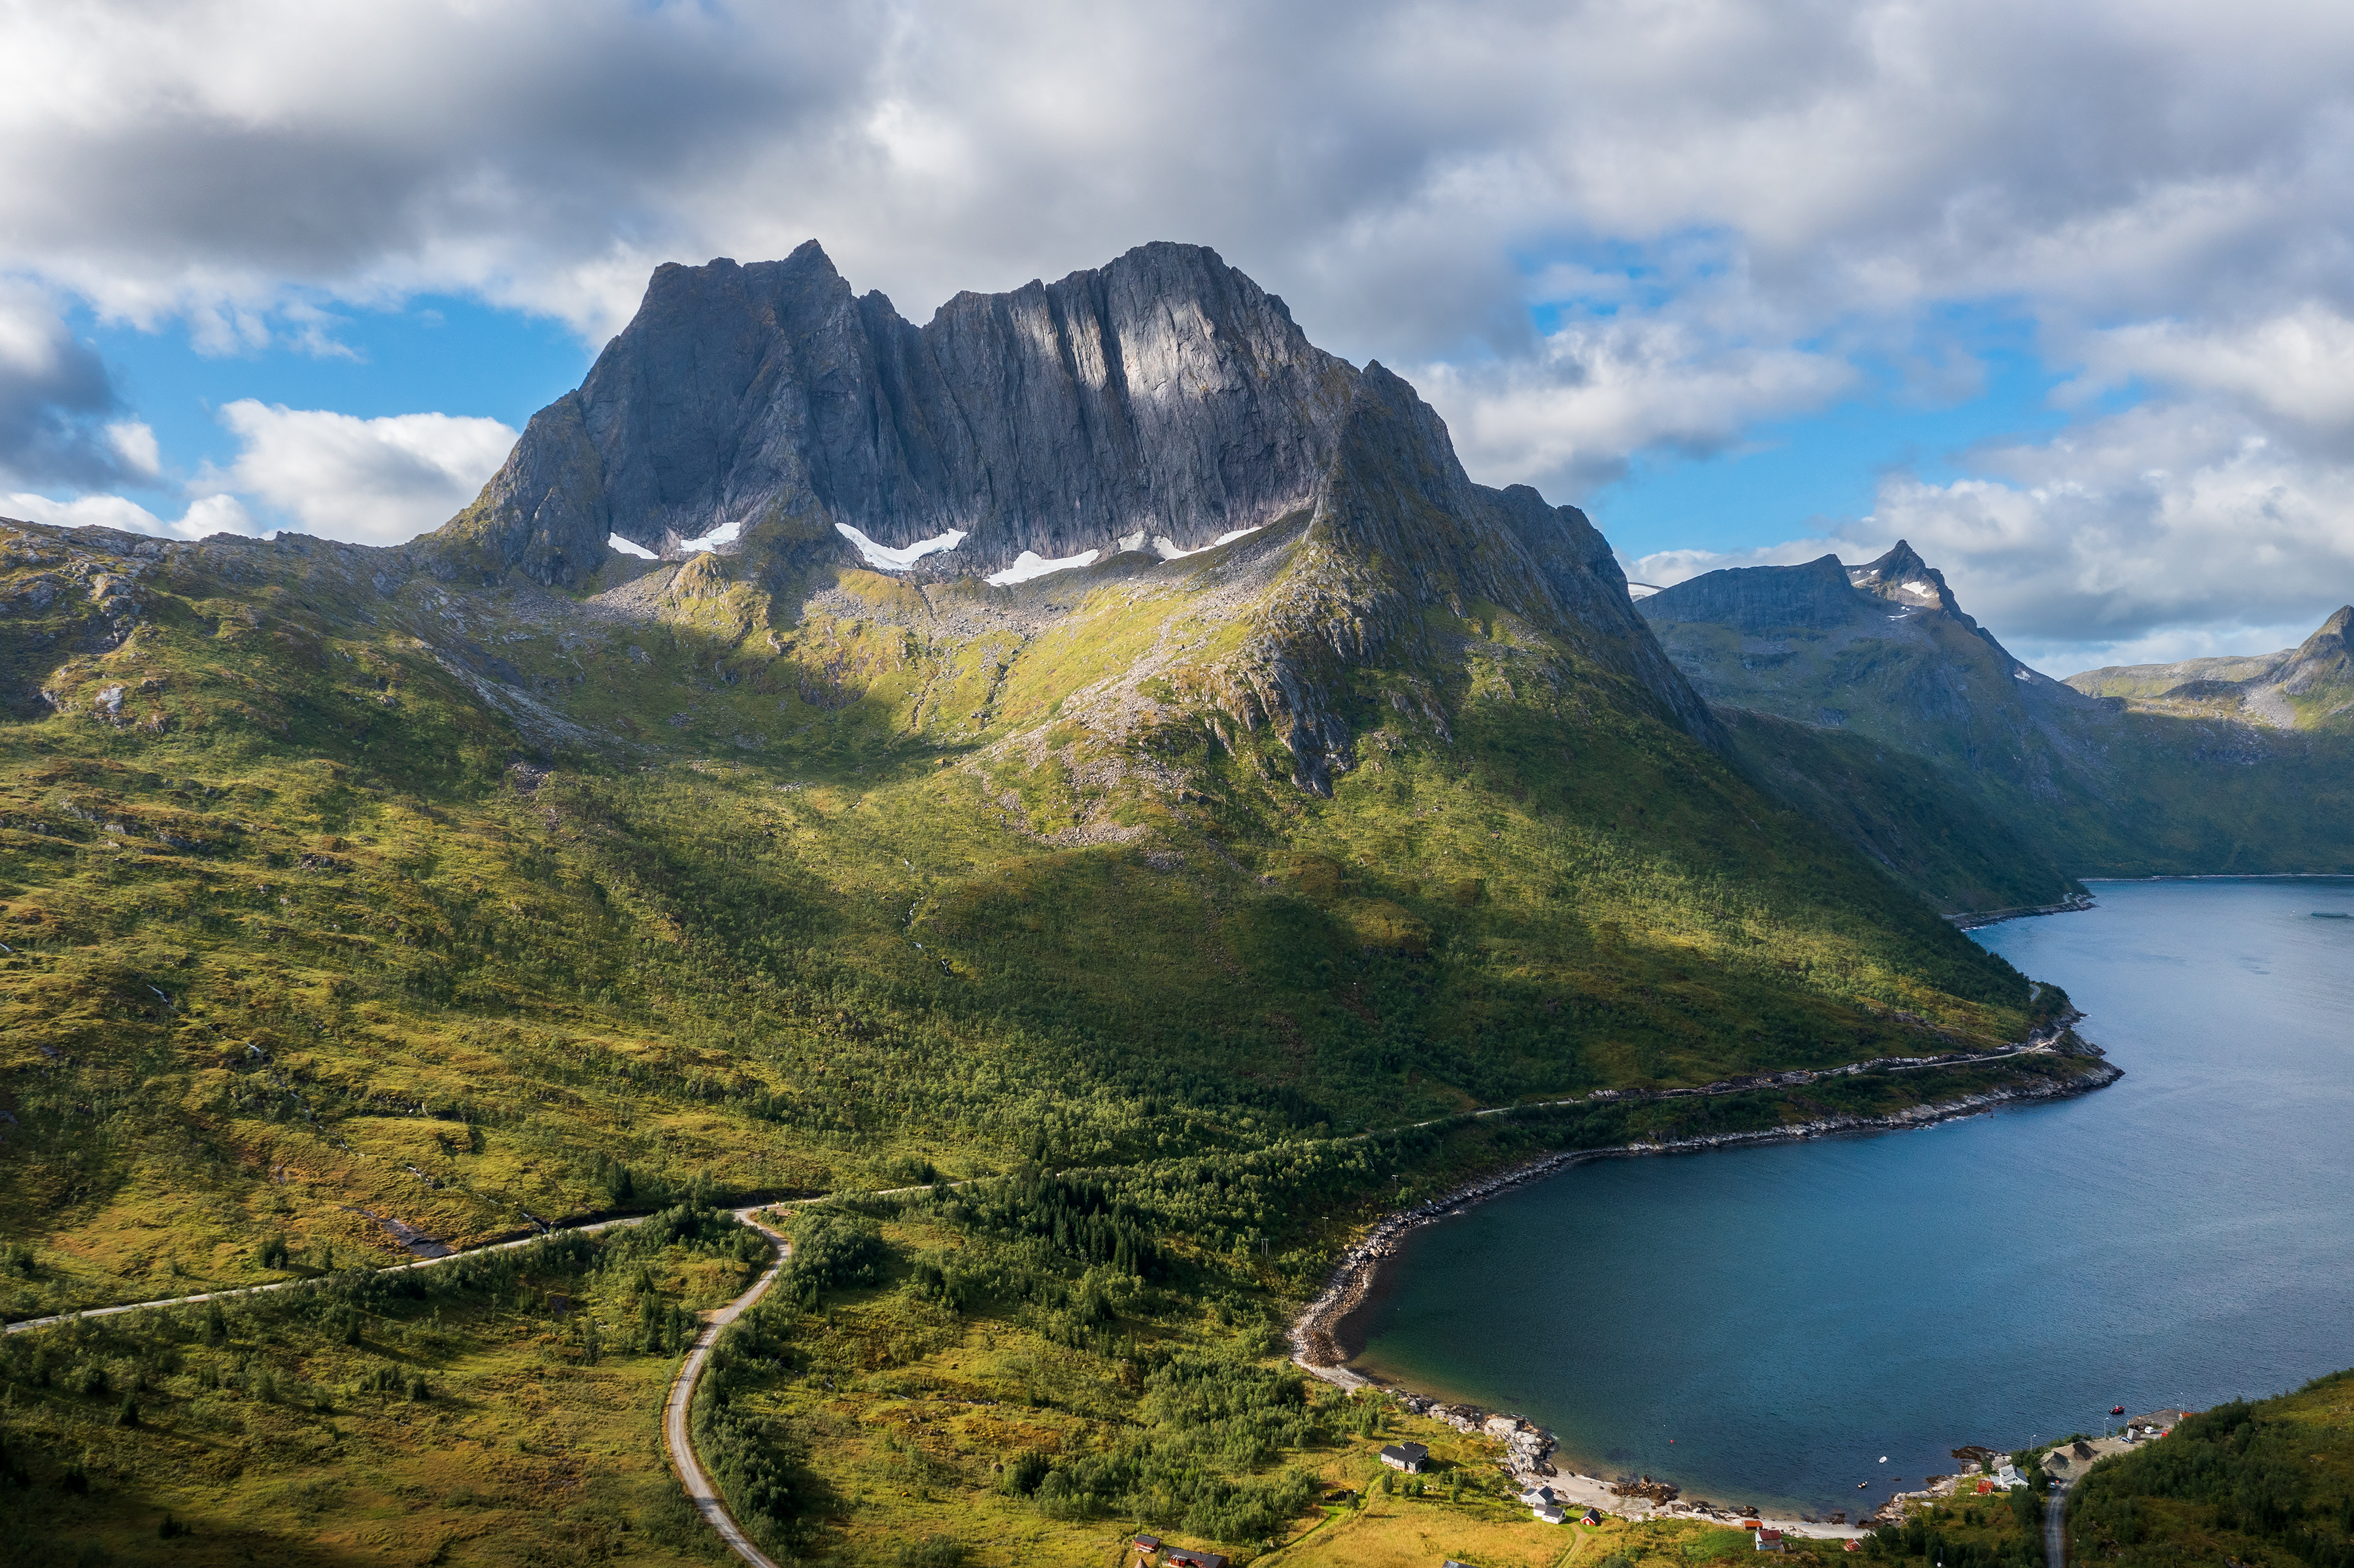
M 9 1335 L 9 1561 L 711 1561 L 664 1467 L 661 1394 L 694 1309 L 765 1255 L 683 1208 Z

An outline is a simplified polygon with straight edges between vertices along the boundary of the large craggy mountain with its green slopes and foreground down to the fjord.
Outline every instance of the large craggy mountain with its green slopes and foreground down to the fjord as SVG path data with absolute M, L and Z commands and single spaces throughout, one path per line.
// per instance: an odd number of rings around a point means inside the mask
M 0 607 L 0 1307 L 318 1283 L 12 1335 L 21 1540 L 692 1554 L 650 1394 L 758 1253 L 706 1205 L 850 1194 L 697 1406 L 763 1540 L 1255 1542 L 1337 1431 L 1269 1330 L 1363 1215 L 2100 1076 L 1968 1059 L 2067 998 L 1751 782 L 1582 513 L 1196 247 L 920 330 L 814 247 L 664 268 L 435 534 L 7 523 Z

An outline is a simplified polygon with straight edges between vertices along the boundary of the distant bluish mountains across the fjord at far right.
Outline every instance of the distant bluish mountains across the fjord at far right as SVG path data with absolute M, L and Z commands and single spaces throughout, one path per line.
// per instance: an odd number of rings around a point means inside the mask
M 2081 876 L 2354 869 L 2328 805 L 2354 803 L 2345 612 L 2269 662 L 2062 683 L 1904 542 L 1707 572 L 1638 610 L 1751 777 L 1951 911 L 2062 902 Z

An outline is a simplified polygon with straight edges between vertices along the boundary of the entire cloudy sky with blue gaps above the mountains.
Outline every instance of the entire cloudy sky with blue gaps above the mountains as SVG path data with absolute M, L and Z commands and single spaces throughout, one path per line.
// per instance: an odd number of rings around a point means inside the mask
M 1198 240 L 1638 579 L 2022 657 L 2354 600 L 2354 7 L 5 2 L 0 513 L 395 542 L 659 261 L 923 320 Z

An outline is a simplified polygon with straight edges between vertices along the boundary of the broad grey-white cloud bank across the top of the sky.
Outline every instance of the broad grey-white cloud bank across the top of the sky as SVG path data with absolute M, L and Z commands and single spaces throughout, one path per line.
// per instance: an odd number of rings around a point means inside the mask
M 118 0 L 9 42 L 0 271 L 224 346 L 419 287 L 603 337 L 654 261 L 810 235 L 918 313 L 1198 238 L 1387 358 L 1693 233 L 1817 323 L 2347 290 L 2354 24 L 2295 0 Z

